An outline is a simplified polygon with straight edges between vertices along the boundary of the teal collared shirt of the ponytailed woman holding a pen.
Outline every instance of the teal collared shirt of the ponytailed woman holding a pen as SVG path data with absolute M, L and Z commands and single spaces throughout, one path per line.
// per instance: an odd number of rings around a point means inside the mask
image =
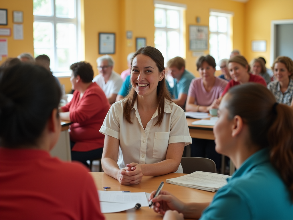
M 268 149 L 251 155 L 215 194 L 203 219 L 293 219 L 289 191 L 269 160 Z

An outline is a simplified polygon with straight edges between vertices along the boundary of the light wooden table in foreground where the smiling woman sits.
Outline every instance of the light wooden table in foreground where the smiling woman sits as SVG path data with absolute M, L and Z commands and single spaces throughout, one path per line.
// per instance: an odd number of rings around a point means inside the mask
M 113 191 L 130 191 L 130 192 L 148 192 L 156 190 L 160 185 L 161 181 L 166 181 L 166 179 L 180 177 L 185 174 L 182 173 L 169 173 L 163 176 L 151 177 L 144 176 L 142 177 L 142 182 L 137 185 L 124 186 L 120 185 L 118 180 L 108 176 L 104 172 L 91 172 L 90 173 L 95 181 L 96 187 L 98 190 L 103 190 L 103 187 L 111 187 L 110 190 Z M 163 190 L 167 190 L 175 195 L 178 199 L 183 202 L 211 202 L 214 197 L 214 192 L 208 192 L 200 189 L 192 189 L 183 186 L 177 186 L 173 184 L 166 183 L 164 184 Z M 106 213 L 104 214 L 107 220 L 124 220 L 124 219 L 158 219 L 162 220 L 162 216 L 156 214 L 149 207 L 141 207 L 140 209 L 130 209 L 127 211 L 117 212 L 117 213 Z

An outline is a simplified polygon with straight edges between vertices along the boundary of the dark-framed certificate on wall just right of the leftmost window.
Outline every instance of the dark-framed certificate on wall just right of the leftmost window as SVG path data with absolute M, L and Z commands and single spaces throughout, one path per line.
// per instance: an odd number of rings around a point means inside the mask
M 99 33 L 99 54 L 115 54 L 115 33 Z

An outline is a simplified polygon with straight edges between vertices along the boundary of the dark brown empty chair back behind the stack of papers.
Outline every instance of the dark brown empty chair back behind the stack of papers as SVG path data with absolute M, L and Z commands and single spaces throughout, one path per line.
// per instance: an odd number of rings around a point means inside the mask
M 195 171 L 216 173 L 217 167 L 213 160 L 202 157 L 183 157 L 181 158 L 183 173 L 193 173 Z

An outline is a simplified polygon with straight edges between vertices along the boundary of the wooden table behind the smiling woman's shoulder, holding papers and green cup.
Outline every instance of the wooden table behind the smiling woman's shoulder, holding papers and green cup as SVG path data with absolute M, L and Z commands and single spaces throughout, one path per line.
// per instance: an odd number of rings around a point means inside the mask
M 192 138 L 200 138 L 200 139 L 207 139 L 207 140 L 214 140 L 215 136 L 213 133 L 213 126 L 206 126 L 206 125 L 193 125 L 191 124 L 194 121 L 200 120 L 200 119 L 191 119 L 186 118 L 188 128 L 189 128 L 189 134 Z M 225 156 L 222 155 L 222 163 L 221 163 L 221 173 L 224 173 L 225 169 Z M 235 171 L 235 166 L 230 160 L 230 175 L 232 175 Z

